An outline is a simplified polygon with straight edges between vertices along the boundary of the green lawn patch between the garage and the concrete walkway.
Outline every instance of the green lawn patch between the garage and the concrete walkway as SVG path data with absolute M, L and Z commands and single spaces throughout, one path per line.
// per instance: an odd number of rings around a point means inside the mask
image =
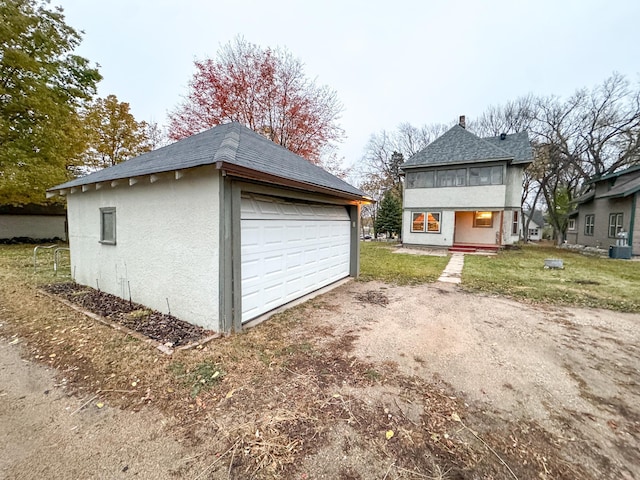
M 395 243 L 360 242 L 360 279 L 398 285 L 434 282 L 449 257 L 393 253 Z

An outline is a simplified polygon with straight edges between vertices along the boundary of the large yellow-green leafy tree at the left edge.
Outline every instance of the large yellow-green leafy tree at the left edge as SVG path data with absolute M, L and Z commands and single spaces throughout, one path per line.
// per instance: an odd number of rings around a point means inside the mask
M 0 204 L 44 203 L 84 151 L 77 112 L 102 77 L 80 40 L 59 8 L 0 2 Z

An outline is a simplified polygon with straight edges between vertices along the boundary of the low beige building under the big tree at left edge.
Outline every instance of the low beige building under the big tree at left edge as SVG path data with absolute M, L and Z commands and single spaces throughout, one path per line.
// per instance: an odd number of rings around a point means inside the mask
M 67 239 L 67 212 L 61 205 L 0 206 L 0 241 Z

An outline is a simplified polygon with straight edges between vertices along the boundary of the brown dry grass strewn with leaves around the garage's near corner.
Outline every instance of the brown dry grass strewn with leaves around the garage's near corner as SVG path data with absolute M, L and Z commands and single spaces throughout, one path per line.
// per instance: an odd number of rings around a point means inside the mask
M 522 433 L 514 447 L 505 425 L 471 412 L 447 385 L 355 357 L 358 331 L 338 335 L 322 322 L 319 313 L 345 312 L 321 298 L 169 357 L 38 294 L 51 279 L 27 272 L 25 251 L 0 247 L 0 334 L 83 398 L 164 412 L 202 462 L 197 478 L 314 478 L 332 468 L 343 479 L 508 478 L 505 463 L 522 479 L 589 478 L 548 441 Z M 340 467 L 350 451 L 365 460 Z M 312 457 L 322 467 L 305 463 Z

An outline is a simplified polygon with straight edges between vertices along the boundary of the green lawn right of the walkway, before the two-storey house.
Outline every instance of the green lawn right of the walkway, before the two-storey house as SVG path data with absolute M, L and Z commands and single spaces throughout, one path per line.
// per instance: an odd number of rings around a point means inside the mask
M 564 269 L 545 269 L 546 258 L 562 259 Z M 525 246 L 495 257 L 467 255 L 462 286 L 536 303 L 640 312 L 639 262 L 554 247 Z

